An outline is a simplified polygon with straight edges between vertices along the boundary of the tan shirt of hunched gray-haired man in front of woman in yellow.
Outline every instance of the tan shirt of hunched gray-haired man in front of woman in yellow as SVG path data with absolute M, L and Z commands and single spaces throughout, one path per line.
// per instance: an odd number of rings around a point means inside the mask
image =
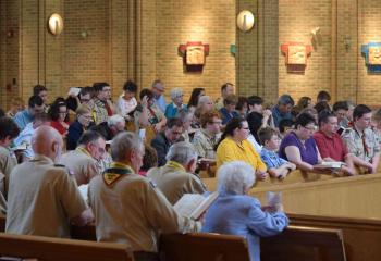
M 167 162 L 161 167 L 153 167 L 147 172 L 171 204 L 177 202 L 184 194 L 204 194 L 206 187 L 201 179 L 174 161 Z

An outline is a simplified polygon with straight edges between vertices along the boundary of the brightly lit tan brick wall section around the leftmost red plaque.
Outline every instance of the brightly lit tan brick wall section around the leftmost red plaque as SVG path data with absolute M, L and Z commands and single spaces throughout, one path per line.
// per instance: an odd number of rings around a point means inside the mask
M 235 59 L 230 53 L 235 44 L 234 0 L 157 1 L 156 24 L 156 76 L 168 89 L 183 88 L 187 101 L 193 88 L 205 87 L 208 95 L 219 97 L 223 83 L 235 84 Z M 177 47 L 187 41 L 210 45 L 202 73 L 184 72 Z

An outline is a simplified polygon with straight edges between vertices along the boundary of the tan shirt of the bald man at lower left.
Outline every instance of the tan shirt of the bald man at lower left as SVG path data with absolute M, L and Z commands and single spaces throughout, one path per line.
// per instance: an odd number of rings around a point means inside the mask
M 5 232 L 70 237 L 70 219 L 87 208 L 66 170 L 36 154 L 11 173 Z

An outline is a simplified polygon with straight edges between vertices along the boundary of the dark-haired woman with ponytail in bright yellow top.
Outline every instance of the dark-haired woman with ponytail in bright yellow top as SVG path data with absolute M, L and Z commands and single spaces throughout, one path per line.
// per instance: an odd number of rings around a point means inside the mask
M 266 164 L 247 140 L 249 128 L 245 119 L 233 117 L 228 122 L 217 144 L 217 167 L 229 161 L 244 161 L 251 165 L 258 178 L 265 179 L 269 176 Z

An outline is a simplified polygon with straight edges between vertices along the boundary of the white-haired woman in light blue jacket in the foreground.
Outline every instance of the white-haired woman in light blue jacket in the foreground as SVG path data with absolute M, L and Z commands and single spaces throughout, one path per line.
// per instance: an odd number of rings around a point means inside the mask
M 219 197 L 206 214 L 202 232 L 245 237 L 250 260 L 259 261 L 259 237 L 279 234 L 288 219 L 280 202 L 261 208 L 258 199 L 247 196 L 255 179 L 253 167 L 245 162 L 223 164 L 218 172 Z

